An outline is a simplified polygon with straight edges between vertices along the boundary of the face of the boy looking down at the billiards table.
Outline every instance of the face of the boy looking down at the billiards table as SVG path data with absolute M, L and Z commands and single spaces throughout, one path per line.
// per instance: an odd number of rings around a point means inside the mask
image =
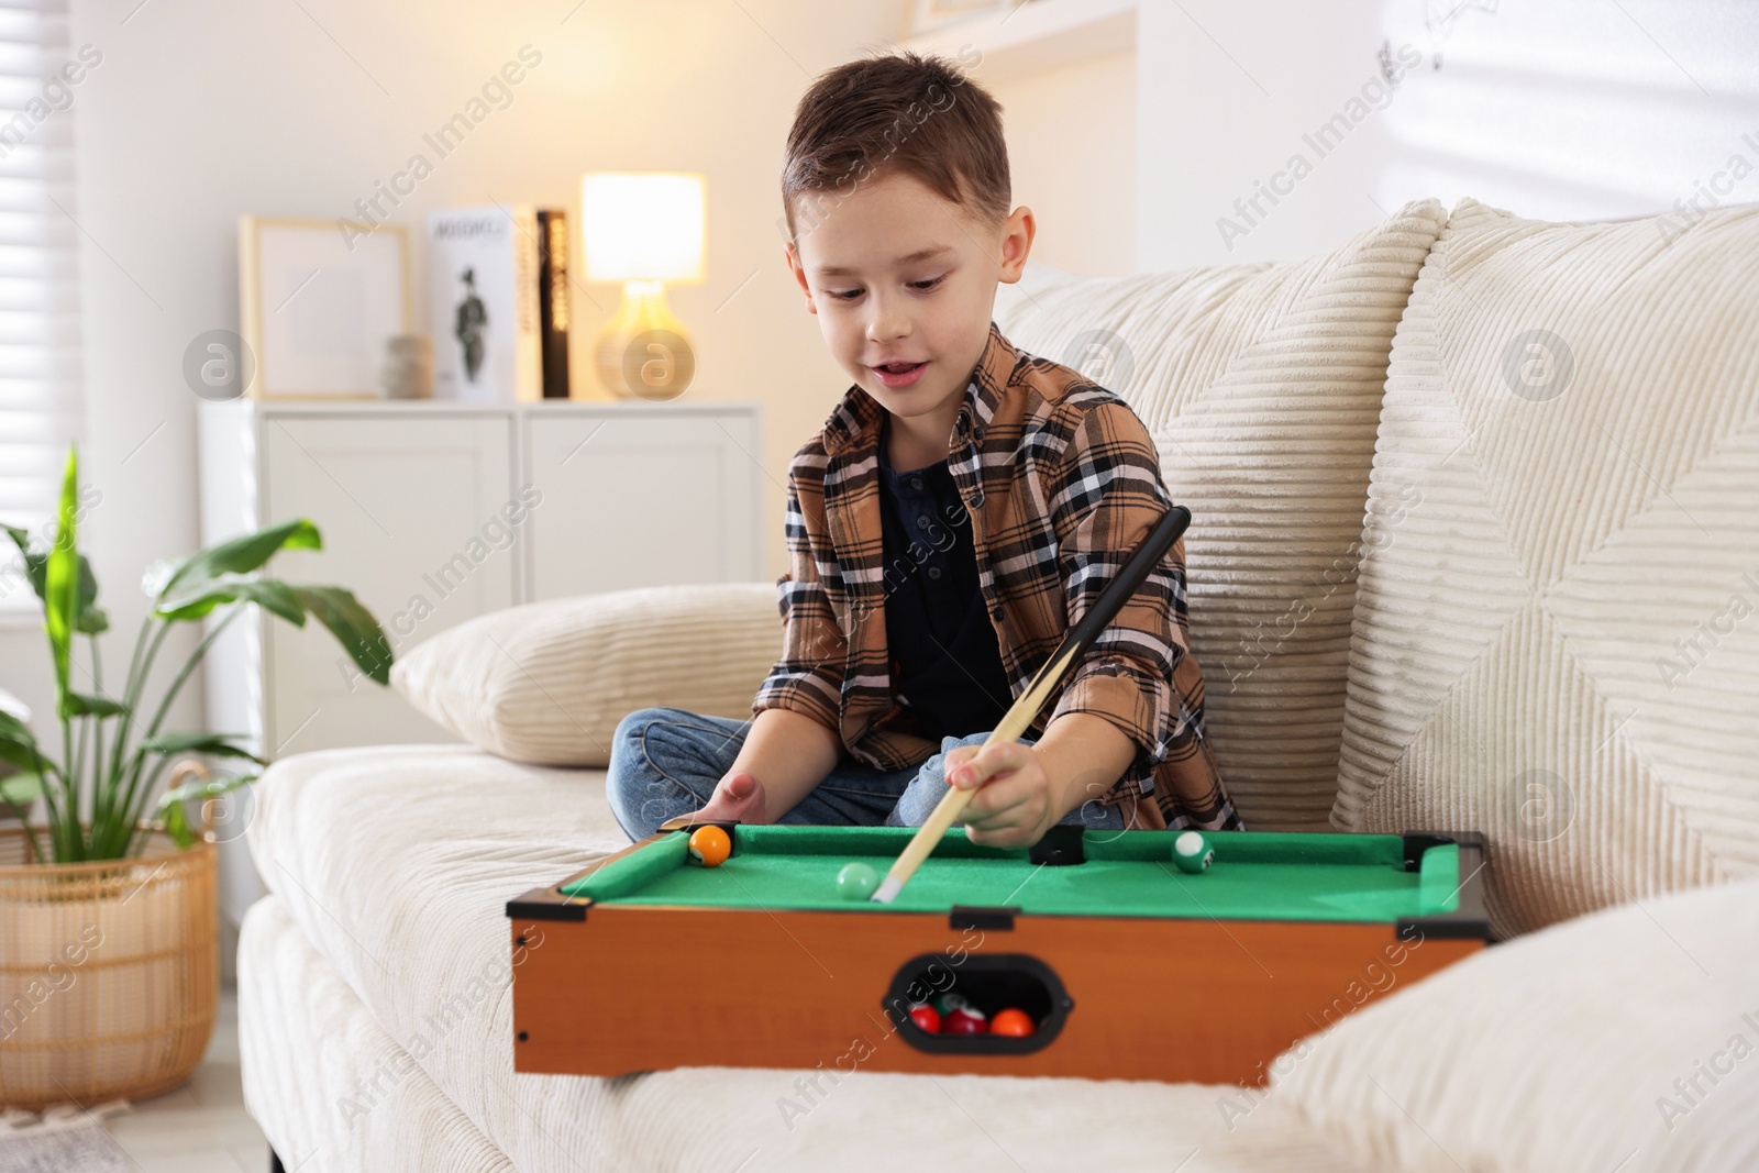
M 1025 266 L 1031 209 L 982 227 L 895 172 L 848 199 L 825 193 L 816 209 L 816 223 L 797 215 L 800 236 L 785 251 L 830 353 L 894 417 L 952 429 L 989 341 L 996 283 L 1018 281 Z M 920 366 L 878 369 L 894 362 Z

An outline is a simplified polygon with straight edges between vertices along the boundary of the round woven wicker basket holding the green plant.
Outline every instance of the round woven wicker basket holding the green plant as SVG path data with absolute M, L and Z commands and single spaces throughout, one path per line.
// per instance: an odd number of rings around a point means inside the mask
M 213 832 L 179 851 L 32 863 L 0 828 L 0 1106 L 167 1092 L 195 1071 L 220 1002 Z

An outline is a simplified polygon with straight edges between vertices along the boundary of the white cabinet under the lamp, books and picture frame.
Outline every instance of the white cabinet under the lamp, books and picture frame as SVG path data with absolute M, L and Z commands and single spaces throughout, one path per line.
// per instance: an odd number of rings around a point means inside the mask
M 310 517 L 324 550 L 276 577 L 348 587 L 394 654 L 515 603 L 763 577 L 751 403 L 201 404 L 202 543 Z M 236 621 L 208 719 L 267 758 L 456 740 L 359 677 L 315 621 Z

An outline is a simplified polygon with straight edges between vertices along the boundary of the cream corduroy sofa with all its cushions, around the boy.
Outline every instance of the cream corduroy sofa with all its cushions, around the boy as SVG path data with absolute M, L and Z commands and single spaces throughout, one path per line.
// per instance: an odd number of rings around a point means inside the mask
M 767 582 L 540 603 L 396 668 L 471 746 L 257 784 L 239 1043 L 285 1168 L 1759 1168 L 1759 206 L 1425 200 L 1282 266 L 1034 264 L 996 320 L 1154 431 L 1247 823 L 1481 830 L 1504 941 L 1265 1089 L 515 1076 L 503 904 L 624 846 L 610 728 L 746 716 L 779 649 Z

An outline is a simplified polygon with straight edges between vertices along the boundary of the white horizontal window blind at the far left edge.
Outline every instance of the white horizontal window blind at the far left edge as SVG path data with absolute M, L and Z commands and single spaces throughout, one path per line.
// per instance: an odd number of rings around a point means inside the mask
M 67 0 L 0 0 L 0 522 L 44 540 L 83 415 L 70 60 Z M 0 540 L 0 614 L 37 607 L 19 570 Z

